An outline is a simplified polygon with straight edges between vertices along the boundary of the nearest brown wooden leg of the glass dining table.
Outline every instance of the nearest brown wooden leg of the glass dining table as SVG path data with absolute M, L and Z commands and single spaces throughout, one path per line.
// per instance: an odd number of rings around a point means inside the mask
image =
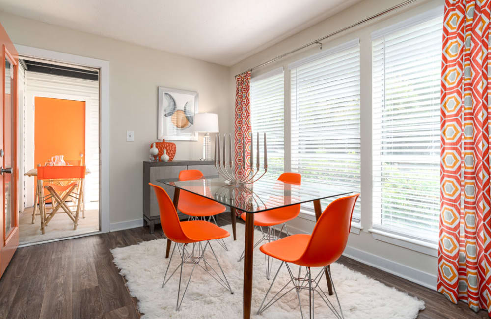
M 246 213 L 244 239 L 244 319 L 250 318 L 252 305 L 252 254 L 254 252 L 254 214 Z

